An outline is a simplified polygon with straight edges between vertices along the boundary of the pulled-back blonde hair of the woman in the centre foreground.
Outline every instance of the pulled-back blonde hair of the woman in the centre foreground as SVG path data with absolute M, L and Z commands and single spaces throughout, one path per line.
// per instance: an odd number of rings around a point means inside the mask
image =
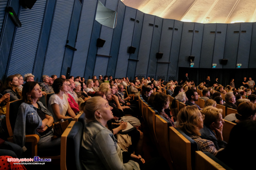
M 87 119 L 86 123 L 97 120 L 95 116 L 95 112 L 101 108 L 101 99 L 102 97 L 96 96 L 96 97 L 89 98 L 87 101 L 85 101 L 85 106 L 83 111 Z

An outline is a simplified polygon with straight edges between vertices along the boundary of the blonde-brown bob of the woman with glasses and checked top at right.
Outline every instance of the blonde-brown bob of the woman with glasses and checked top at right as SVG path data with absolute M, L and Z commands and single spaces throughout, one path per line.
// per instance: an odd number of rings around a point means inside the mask
M 201 136 L 197 128 L 197 121 L 200 119 L 200 115 L 201 113 L 195 105 L 183 107 L 177 115 L 178 124 L 176 126 L 186 134 L 189 133 Z

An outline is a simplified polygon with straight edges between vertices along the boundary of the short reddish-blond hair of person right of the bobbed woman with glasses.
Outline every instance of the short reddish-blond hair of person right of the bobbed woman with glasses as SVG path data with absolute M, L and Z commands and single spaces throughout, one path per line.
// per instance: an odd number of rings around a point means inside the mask
M 217 122 L 217 120 L 220 118 L 220 115 L 222 115 L 222 109 L 218 109 L 216 107 L 207 106 L 202 109 L 202 114 L 205 115 L 205 118 L 203 122 L 209 126 L 213 122 Z

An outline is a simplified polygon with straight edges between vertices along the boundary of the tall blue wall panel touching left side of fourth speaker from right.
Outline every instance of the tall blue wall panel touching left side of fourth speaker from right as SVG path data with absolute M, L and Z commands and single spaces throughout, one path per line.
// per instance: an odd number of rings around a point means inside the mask
M 115 77 L 125 77 L 127 74 L 128 68 L 128 59 L 129 53 L 127 52 L 128 47 L 132 45 L 132 38 L 134 32 L 135 22 L 131 21 L 130 18 L 136 18 L 137 10 L 131 7 L 126 7 L 124 20 L 123 20 L 123 29 L 121 34 L 119 55 L 117 59 Z

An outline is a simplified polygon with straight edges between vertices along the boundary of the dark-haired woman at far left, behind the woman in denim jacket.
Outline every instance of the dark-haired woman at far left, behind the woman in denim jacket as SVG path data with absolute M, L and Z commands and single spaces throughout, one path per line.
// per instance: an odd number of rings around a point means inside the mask
M 18 79 L 17 76 L 12 75 L 12 76 L 8 76 L 3 89 L 4 91 L 2 92 L 2 94 L 10 94 L 10 101 L 16 101 L 20 99 L 20 95 L 19 93 L 16 91 L 16 88 L 20 86 L 20 81 Z

